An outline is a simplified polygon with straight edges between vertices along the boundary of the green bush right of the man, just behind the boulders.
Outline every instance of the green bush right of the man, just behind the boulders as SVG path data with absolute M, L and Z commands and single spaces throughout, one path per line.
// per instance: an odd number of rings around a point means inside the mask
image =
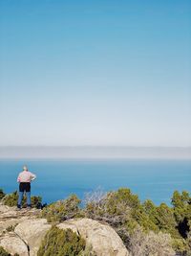
M 49 222 L 66 221 L 74 217 L 80 217 L 80 199 L 75 195 L 65 200 L 56 201 L 45 207 L 41 213 L 42 218 Z

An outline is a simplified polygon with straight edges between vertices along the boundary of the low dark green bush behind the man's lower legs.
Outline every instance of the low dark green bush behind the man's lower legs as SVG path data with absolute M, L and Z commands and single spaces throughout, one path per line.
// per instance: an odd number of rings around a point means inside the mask
M 11 206 L 11 207 L 12 206 L 16 206 L 17 205 L 17 201 L 18 201 L 18 192 L 17 191 L 14 191 L 11 194 L 7 194 L 3 198 L 3 203 L 5 205 Z M 41 203 L 41 201 L 42 201 L 42 198 L 33 196 L 32 197 L 32 207 L 36 207 L 38 203 Z M 22 205 L 24 207 L 27 206 L 27 198 L 26 198 L 26 196 L 24 196 L 24 198 L 23 198 Z

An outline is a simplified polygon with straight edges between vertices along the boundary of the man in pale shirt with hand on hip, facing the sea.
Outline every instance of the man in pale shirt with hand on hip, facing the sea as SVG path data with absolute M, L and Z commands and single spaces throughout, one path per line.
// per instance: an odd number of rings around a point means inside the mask
M 18 194 L 18 202 L 17 208 L 21 209 L 21 203 L 23 199 L 24 192 L 27 196 L 27 206 L 29 208 L 32 207 L 31 201 L 31 181 L 36 178 L 36 175 L 33 175 L 31 172 L 28 171 L 26 165 L 23 167 L 23 172 L 21 172 L 17 177 L 17 182 L 19 182 L 19 194 Z

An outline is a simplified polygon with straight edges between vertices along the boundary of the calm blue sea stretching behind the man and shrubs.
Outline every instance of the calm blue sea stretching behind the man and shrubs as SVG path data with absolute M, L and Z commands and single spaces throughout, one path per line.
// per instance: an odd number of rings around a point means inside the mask
M 0 188 L 17 189 L 16 177 L 23 164 L 37 175 L 32 195 L 44 202 L 101 187 L 103 191 L 128 187 L 141 200 L 170 204 L 174 190 L 191 191 L 191 160 L 0 160 Z

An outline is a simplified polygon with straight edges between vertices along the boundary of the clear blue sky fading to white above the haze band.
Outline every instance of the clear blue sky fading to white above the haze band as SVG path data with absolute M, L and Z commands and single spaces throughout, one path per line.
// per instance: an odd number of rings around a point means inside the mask
M 190 12 L 1 0 L 0 144 L 191 146 Z

